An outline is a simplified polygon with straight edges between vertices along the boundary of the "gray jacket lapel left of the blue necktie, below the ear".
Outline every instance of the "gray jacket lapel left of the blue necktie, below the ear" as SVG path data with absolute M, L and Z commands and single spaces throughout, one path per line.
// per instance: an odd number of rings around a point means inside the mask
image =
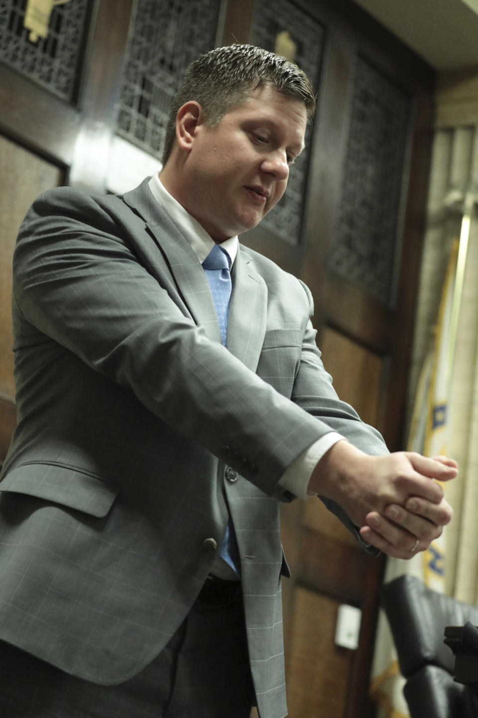
M 210 340 L 221 342 L 216 308 L 201 263 L 186 237 L 150 194 L 148 179 L 126 192 L 123 199 L 145 220 L 148 233 L 166 258 L 178 292 L 196 324 L 204 328 Z

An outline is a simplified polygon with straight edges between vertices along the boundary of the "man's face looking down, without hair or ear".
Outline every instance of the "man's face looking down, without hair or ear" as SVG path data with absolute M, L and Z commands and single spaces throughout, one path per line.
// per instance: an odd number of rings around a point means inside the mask
M 303 149 L 306 124 L 302 101 L 265 86 L 216 125 L 198 126 L 187 160 L 186 209 L 214 241 L 255 227 L 272 210 Z

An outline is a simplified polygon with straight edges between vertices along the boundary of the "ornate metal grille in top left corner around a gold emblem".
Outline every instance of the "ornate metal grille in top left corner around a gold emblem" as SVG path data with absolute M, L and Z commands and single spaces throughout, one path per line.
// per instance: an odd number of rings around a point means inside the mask
M 29 40 L 23 21 L 27 0 L 0 0 L 0 60 L 69 102 L 74 101 L 80 57 L 90 23 L 90 0 L 57 5 L 49 34 Z

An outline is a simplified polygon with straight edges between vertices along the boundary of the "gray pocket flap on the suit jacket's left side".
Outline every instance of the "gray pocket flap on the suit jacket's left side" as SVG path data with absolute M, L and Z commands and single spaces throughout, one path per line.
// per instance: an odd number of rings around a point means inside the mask
M 119 488 L 74 467 L 32 463 L 7 473 L 0 491 L 36 496 L 101 518 L 110 510 Z

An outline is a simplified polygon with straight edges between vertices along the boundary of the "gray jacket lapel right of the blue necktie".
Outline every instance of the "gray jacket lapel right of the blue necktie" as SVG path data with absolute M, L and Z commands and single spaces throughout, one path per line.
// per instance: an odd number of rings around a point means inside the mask
M 232 269 L 232 294 L 227 325 L 227 348 L 255 371 L 267 322 L 267 286 L 239 245 Z

